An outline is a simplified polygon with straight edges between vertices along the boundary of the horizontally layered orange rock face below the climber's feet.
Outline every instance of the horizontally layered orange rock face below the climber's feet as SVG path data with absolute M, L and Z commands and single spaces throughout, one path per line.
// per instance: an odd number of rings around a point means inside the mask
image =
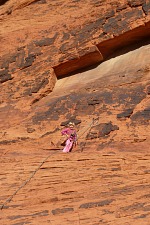
M 150 158 L 144 153 L 52 152 L 34 179 L 1 211 L 1 224 L 148 225 Z M 22 146 L 3 155 L 1 199 L 8 198 L 47 154 L 39 147 L 35 151 Z

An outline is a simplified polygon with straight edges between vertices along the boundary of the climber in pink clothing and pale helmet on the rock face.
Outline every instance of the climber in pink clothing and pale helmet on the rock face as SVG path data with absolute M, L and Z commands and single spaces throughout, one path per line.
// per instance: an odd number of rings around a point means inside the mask
M 61 134 L 65 135 L 67 138 L 65 141 L 65 147 L 63 149 L 63 152 L 71 152 L 73 146 L 77 145 L 77 133 L 74 127 L 75 124 L 69 122 L 68 127 L 64 128 L 61 131 Z

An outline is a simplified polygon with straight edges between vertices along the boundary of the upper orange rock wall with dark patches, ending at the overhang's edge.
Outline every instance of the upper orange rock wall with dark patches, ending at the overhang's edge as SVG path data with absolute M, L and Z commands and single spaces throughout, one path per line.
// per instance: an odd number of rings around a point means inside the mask
M 149 36 L 149 7 L 146 0 L 7 1 L 0 8 L 1 102 L 42 98 L 56 76 Z

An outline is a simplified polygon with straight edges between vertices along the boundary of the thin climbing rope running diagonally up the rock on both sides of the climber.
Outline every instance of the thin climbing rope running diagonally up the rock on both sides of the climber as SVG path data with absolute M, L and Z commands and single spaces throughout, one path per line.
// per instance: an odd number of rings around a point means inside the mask
M 88 128 L 91 128 L 93 125 L 96 125 L 98 122 L 99 118 L 96 118 L 92 120 L 92 122 L 89 124 Z M 81 138 L 81 136 L 87 131 L 87 129 L 79 135 L 79 138 Z M 52 150 L 52 149 L 51 149 Z M 13 197 L 27 184 L 29 183 L 29 181 L 34 177 L 34 175 L 36 174 L 36 172 L 41 168 L 41 166 L 47 161 L 47 159 L 52 156 L 53 154 L 55 154 L 55 152 L 49 154 L 41 163 L 40 165 L 36 168 L 36 170 L 33 171 L 33 173 L 31 174 L 31 176 L 0 206 L 0 209 L 4 209 L 4 207 L 6 206 L 7 203 L 11 202 L 11 200 L 13 199 Z

